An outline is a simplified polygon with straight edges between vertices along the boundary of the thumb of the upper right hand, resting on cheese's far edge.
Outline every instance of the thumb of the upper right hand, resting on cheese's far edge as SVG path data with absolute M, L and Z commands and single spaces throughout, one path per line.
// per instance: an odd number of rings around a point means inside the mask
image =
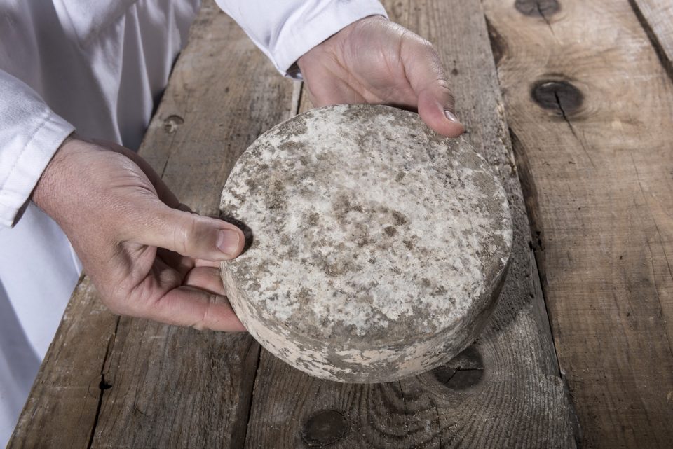
M 456 117 L 454 94 L 440 57 L 428 41 L 414 42 L 414 47 L 405 52 L 402 59 L 409 84 L 418 97 L 419 116 L 436 132 L 458 137 L 465 127 Z

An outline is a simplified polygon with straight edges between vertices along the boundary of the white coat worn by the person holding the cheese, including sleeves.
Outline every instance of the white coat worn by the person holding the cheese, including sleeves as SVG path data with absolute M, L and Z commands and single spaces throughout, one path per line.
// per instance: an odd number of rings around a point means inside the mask
M 276 68 L 376 0 L 216 0 Z M 30 194 L 76 130 L 136 149 L 200 0 L 0 0 L 0 446 L 81 265 Z

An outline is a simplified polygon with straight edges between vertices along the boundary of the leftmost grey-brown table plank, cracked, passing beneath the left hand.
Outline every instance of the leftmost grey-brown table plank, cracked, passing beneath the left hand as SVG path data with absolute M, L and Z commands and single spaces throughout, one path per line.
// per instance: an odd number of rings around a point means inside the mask
M 292 107 L 292 82 L 207 1 L 140 153 L 182 202 L 217 216 L 238 155 Z M 115 317 L 85 280 L 9 447 L 239 448 L 258 354 L 247 334 Z

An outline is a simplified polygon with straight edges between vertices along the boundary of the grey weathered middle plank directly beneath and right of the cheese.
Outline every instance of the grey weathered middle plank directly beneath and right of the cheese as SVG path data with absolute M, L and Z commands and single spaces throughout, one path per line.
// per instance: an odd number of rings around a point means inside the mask
M 510 274 L 477 343 L 416 378 L 344 385 L 310 378 L 262 350 L 245 447 L 574 447 L 481 6 L 385 3 L 393 20 L 437 44 L 468 138 L 506 186 L 516 228 Z

